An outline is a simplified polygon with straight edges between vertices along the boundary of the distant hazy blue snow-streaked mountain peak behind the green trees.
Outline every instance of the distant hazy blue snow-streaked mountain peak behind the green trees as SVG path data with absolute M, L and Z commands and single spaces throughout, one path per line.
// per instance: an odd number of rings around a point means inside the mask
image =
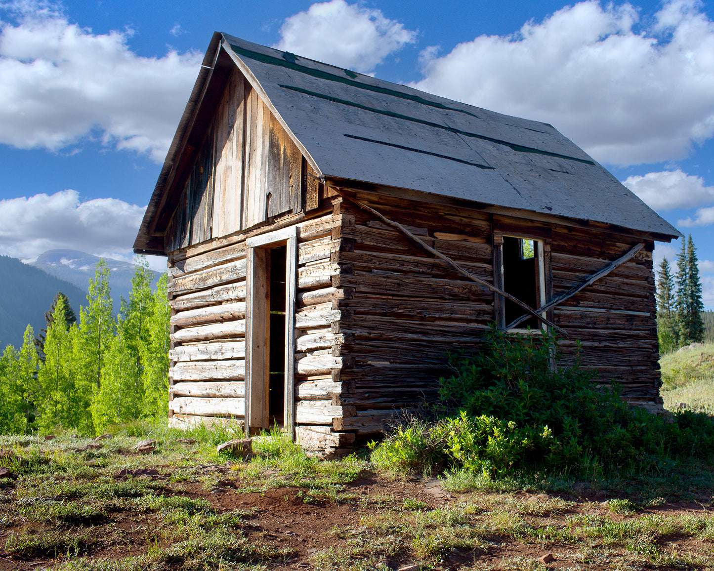
M 89 290 L 89 278 L 94 278 L 94 268 L 98 261 L 99 256 L 92 256 L 76 250 L 49 250 L 35 258 L 24 260 L 29 266 L 46 271 L 50 276 L 74 283 L 84 291 Z M 135 266 L 133 263 L 113 260 L 112 258 L 104 258 L 104 261 L 106 261 L 109 265 L 109 270 L 111 270 L 109 287 L 111 288 L 111 299 L 114 301 L 114 313 L 116 313 L 121 307 L 121 297 L 129 299 L 131 278 L 134 276 Z M 154 280 L 151 281 L 151 287 L 156 288 L 156 282 L 159 281 L 161 273 L 153 273 Z M 82 303 L 85 303 L 84 300 Z M 77 317 L 79 317 L 79 307 L 75 308 L 75 310 Z

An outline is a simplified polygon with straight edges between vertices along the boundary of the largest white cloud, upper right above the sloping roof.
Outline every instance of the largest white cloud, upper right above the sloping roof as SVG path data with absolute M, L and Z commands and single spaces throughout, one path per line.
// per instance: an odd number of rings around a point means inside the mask
M 513 36 L 425 54 L 418 89 L 552 123 L 598 161 L 683 158 L 714 133 L 714 23 L 670 1 L 643 31 L 630 4 L 566 6 Z

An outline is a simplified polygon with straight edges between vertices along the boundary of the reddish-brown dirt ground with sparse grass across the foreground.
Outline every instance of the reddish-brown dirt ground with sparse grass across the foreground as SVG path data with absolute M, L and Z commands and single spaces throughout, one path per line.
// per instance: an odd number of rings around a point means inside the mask
M 0 479 L 0 571 L 714 565 L 704 496 L 449 493 L 440 480 L 395 480 L 357 459 L 223 461 L 198 444 L 139 455 L 119 440 L 90 453 L 38 445 L 36 465 L 37 450 L 15 449 L 26 467 Z

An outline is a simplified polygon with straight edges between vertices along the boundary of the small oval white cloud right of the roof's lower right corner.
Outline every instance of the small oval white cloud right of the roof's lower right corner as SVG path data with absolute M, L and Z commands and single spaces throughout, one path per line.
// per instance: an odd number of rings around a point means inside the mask
M 714 186 L 704 186 L 700 176 L 680 169 L 628 176 L 623 184 L 655 210 L 695 208 L 714 201 Z

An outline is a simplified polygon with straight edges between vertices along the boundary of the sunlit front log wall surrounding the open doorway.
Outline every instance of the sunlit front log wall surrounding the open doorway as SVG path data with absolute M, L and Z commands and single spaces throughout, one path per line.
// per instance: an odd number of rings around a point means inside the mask
M 256 231 L 214 239 L 169 256 L 171 383 L 169 415 L 174 425 L 243 421 L 246 358 L 246 238 L 298 227 L 295 315 L 296 434 L 306 447 L 323 452 L 354 439 L 335 430 L 353 410 L 339 400 L 341 336 L 332 333 L 344 288 L 333 287 L 340 248 L 334 229 L 341 214 L 332 201 L 310 216 L 289 215 Z M 337 208 L 338 210 L 338 208 Z

